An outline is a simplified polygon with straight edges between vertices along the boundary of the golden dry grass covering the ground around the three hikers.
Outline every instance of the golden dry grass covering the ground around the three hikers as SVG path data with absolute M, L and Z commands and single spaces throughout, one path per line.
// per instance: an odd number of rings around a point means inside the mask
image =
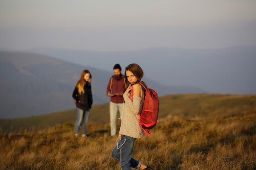
M 159 100 L 157 126 L 135 141 L 135 159 L 156 170 L 256 170 L 256 95 Z M 108 123 L 89 119 L 88 138 L 74 137 L 73 121 L 2 132 L 0 170 L 120 170 L 110 155 L 117 136 L 109 136 Z

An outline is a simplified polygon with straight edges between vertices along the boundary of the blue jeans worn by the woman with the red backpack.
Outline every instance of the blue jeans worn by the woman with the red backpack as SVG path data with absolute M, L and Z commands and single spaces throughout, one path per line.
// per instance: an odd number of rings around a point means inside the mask
M 136 138 L 121 135 L 121 140 L 117 142 L 112 150 L 111 156 L 120 162 L 122 170 L 131 170 L 139 168 L 141 162 L 132 158 L 133 146 Z

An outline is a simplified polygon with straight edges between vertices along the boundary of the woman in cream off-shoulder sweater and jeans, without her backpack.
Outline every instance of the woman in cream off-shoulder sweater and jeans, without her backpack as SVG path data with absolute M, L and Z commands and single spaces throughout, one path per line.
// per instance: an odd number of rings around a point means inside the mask
M 144 137 L 145 132 L 139 126 L 139 113 L 141 113 L 144 104 L 145 89 L 141 87 L 141 81 L 144 76 L 142 68 L 138 64 L 130 64 L 125 69 L 126 84 L 128 88 L 123 94 L 124 111 L 121 116 L 121 126 L 119 130 L 119 140 L 112 150 L 111 156 L 120 162 L 122 170 L 139 168 L 141 170 L 154 170 L 132 158 L 134 142 L 136 139 Z M 133 89 L 133 93 L 132 92 Z

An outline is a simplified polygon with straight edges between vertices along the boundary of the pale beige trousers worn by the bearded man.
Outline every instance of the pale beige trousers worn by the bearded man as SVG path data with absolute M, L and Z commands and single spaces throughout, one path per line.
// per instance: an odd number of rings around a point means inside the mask
M 117 132 L 117 112 L 119 111 L 120 117 L 123 114 L 124 104 L 123 103 L 113 103 L 109 104 L 110 113 L 110 135 L 114 136 Z

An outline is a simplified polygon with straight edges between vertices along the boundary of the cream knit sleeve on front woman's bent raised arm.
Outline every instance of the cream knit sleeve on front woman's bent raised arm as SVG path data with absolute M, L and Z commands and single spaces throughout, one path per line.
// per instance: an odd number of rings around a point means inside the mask
M 133 96 L 133 102 L 129 97 L 129 93 L 124 93 L 123 97 L 128 108 L 132 111 L 132 114 L 138 115 L 140 110 L 140 105 L 141 105 L 141 97 Z

